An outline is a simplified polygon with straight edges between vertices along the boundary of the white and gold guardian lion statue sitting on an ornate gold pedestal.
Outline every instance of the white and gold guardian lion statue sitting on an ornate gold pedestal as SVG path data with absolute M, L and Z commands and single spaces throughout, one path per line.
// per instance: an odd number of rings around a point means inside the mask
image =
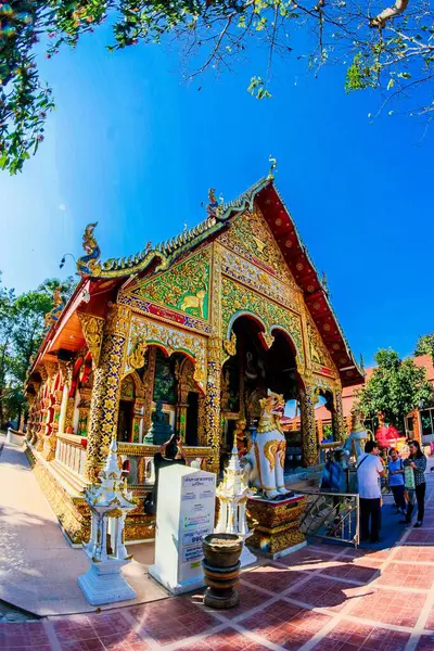
M 269 391 L 259 404 L 261 413 L 255 441 L 243 459 L 251 484 L 275 499 L 288 493 L 283 476 L 286 439 L 280 425 L 285 403 L 282 395 Z

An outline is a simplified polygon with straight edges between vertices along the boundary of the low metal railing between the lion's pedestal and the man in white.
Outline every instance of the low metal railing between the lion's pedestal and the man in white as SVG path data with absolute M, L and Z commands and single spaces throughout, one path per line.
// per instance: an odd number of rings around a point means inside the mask
M 355 493 L 316 493 L 306 495 L 306 509 L 299 522 L 305 536 L 359 544 L 359 496 Z

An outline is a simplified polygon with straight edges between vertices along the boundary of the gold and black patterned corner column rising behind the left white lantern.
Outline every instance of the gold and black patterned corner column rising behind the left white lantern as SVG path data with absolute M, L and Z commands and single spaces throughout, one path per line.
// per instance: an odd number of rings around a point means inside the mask
M 110 444 L 116 437 L 120 381 L 128 343 L 130 308 L 112 305 L 102 341 L 101 356 L 94 368 L 88 427 L 85 474 L 94 480 L 104 464 Z

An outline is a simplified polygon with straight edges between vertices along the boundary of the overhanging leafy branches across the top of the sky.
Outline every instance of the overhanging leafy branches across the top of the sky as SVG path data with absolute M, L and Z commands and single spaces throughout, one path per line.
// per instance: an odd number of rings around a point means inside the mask
M 230 69 L 248 46 L 259 44 L 264 69 L 248 91 L 271 97 L 276 55 L 305 59 L 315 74 L 344 63 L 348 92 L 384 89 L 384 103 L 417 86 L 426 88 L 417 113 L 434 110 L 434 11 L 430 0 L 359 4 L 356 0 L 23 0 L 0 5 L 0 167 L 12 174 L 43 140 L 47 113 L 54 106 L 35 63 L 35 46 L 48 39 L 47 56 L 63 44 L 75 48 L 82 34 L 113 22 L 110 51 L 176 38 L 189 77 L 208 67 Z M 406 11 L 407 10 L 407 11 Z M 302 37 L 299 36 L 302 35 Z M 298 42 L 302 44 L 298 46 Z M 260 71 L 258 71 L 259 73 Z M 426 84 L 424 84 L 426 82 Z

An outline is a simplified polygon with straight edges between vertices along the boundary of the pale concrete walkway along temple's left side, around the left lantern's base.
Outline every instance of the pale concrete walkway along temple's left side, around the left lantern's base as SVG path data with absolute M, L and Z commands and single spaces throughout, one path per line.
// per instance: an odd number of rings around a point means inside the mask
M 0 436 L 0 600 L 38 615 L 93 612 L 77 583 L 89 567 L 85 552 L 69 547 L 24 451 L 4 441 Z M 130 550 L 135 561 L 126 575 L 138 596 L 130 603 L 166 598 L 148 578 L 153 545 Z

